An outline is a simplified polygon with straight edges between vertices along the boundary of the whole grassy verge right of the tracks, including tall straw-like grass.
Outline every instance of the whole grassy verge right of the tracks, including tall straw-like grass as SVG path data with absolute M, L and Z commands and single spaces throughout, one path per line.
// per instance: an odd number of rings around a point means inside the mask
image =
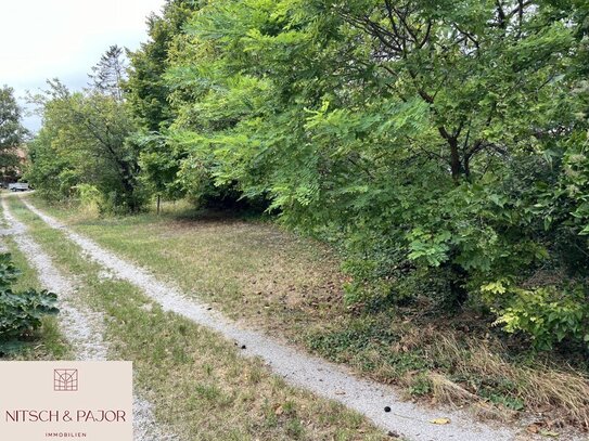
M 589 427 L 587 365 L 508 348 L 479 317 L 346 308 L 345 276 L 325 246 L 280 228 L 167 205 L 162 216 L 99 218 L 34 200 L 120 256 L 227 315 L 431 402 L 482 417 L 534 412 L 541 425 Z

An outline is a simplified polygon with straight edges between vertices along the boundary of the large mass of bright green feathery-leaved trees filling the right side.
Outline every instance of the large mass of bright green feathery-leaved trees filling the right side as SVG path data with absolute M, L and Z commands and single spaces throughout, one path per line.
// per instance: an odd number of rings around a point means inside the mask
M 587 347 L 588 16 L 580 0 L 169 0 L 131 54 L 139 129 L 120 145 L 152 192 L 265 200 L 337 244 L 348 301 L 477 308 L 539 348 Z M 71 189 L 64 170 L 38 186 Z

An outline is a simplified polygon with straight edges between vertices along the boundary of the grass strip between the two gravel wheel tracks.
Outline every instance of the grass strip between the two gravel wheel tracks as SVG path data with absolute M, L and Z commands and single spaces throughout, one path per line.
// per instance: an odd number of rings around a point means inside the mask
M 11 200 L 14 215 L 65 273 L 84 285 L 84 301 L 106 314 L 113 359 L 133 361 L 158 420 L 190 440 L 390 439 L 342 405 L 287 386 L 233 342 L 164 312 L 132 285 L 105 276 L 80 249 Z

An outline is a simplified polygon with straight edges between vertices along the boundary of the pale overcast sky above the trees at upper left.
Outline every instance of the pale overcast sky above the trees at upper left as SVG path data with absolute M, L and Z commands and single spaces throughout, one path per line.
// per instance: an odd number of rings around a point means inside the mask
M 0 0 L 0 86 L 15 89 L 24 104 L 27 90 L 60 78 L 81 89 L 88 74 L 112 44 L 135 50 L 148 40 L 146 16 L 165 0 Z M 27 117 L 37 130 L 40 121 Z

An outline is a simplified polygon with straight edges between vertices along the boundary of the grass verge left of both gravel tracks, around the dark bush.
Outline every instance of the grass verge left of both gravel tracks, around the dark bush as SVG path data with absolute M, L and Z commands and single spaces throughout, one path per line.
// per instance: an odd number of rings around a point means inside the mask
M 0 207 L 0 215 L 2 208 Z M 0 228 L 4 229 L 4 219 L 0 216 Z M 7 252 L 10 252 L 14 265 L 21 271 L 18 280 L 13 285 L 14 291 L 22 291 L 29 288 L 41 289 L 37 271 L 30 268 L 25 256 L 18 250 L 16 243 L 11 236 L 0 237 L 0 243 Z M 30 341 L 14 353 L 0 354 L 0 360 L 67 360 L 72 358 L 72 348 L 62 335 L 57 319 L 47 316 L 42 320 L 42 326 Z

